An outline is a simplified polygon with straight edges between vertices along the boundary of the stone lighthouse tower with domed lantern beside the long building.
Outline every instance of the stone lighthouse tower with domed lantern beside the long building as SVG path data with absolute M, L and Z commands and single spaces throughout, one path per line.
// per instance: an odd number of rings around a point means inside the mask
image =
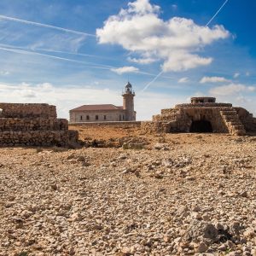
M 125 92 L 123 92 L 123 109 L 125 110 L 125 121 L 135 121 L 136 112 L 134 111 L 134 96 L 135 92 L 132 90 L 130 82 L 125 85 Z

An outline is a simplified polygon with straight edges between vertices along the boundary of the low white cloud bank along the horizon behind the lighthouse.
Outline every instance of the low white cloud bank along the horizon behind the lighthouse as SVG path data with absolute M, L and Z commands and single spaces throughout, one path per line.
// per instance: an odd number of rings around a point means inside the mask
M 84 104 L 122 105 L 119 90 L 93 89 L 84 86 L 58 87 L 54 84 L 0 84 L 0 102 L 49 103 L 57 107 L 58 117 L 68 119 L 68 111 Z M 162 108 L 172 108 L 184 102 L 183 96 L 170 96 L 161 93 L 144 92 L 135 97 L 135 110 L 138 120 L 151 120 L 153 114 Z

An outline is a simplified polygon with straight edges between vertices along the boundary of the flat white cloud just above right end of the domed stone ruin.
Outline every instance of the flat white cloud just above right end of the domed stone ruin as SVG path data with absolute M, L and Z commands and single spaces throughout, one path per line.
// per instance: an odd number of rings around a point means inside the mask
M 247 86 L 245 84 L 227 84 L 223 86 L 217 86 L 210 90 L 210 94 L 213 96 L 230 96 L 236 95 L 241 92 L 253 92 L 256 91 L 256 87 Z

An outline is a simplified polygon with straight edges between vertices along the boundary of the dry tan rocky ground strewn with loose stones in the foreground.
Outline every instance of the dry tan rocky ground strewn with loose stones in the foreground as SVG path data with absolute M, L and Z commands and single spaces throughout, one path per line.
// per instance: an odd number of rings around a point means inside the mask
M 0 148 L 0 255 L 256 255 L 256 137 L 122 136 Z

